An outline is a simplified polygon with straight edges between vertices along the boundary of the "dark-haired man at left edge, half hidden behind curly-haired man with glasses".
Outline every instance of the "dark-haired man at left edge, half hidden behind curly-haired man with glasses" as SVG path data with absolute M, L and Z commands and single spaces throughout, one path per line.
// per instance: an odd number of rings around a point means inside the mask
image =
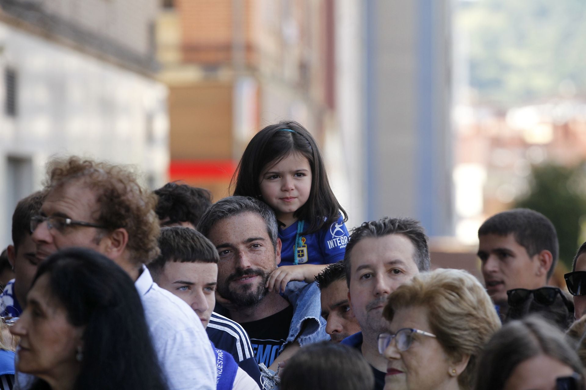
M 26 302 L 26 294 L 39 265 L 35 243 L 30 236 L 30 218 L 39 213 L 45 197 L 45 193 L 38 191 L 21 199 L 12 215 L 12 245 L 6 248 L 6 253 L 15 276 L 0 295 L 2 317 L 19 317 L 24 309 L 21 305 Z

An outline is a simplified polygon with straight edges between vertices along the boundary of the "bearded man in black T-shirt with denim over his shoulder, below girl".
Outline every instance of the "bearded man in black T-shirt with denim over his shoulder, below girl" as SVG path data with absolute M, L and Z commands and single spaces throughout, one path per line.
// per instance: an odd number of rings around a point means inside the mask
M 282 294 L 268 289 L 271 272 L 281 262 L 277 229 L 271 208 L 245 196 L 217 201 L 197 225 L 220 256 L 222 314 L 246 330 L 257 363 L 273 371 L 299 347 L 328 339 L 315 283 L 289 282 Z

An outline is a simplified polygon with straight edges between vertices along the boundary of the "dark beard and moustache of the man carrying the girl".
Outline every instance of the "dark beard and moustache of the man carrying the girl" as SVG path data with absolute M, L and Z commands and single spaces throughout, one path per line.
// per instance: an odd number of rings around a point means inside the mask
M 218 284 L 218 292 L 224 298 L 228 299 L 237 308 L 249 308 L 250 306 L 256 305 L 262 301 L 264 296 L 267 295 L 268 288 L 265 287 L 268 278 L 270 278 L 272 271 L 265 271 L 257 268 L 247 268 L 247 270 L 236 270 L 233 274 L 226 278 L 226 280 Z M 261 278 L 261 282 L 258 283 L 257 288 L 253 289 L 251 285 L 243 285 L 240 291 L 230 290 L 230 282 L 236 278 L 240 278 L 246 275 L 258 275 Z

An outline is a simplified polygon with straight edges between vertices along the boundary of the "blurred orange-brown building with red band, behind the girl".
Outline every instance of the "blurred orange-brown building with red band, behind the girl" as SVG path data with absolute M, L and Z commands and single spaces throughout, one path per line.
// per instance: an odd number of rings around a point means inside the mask
M 162 10 L 172 180 L 229 195 L 246 144 L 278 120 L 297 120 L 326 144 L 335 127 L 333 0 L 175 0 Z

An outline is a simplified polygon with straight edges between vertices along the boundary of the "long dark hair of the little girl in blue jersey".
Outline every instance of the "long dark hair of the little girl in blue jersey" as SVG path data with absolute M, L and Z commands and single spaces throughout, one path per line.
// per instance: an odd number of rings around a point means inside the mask
M 294 213 L 295 218 L 306 223 L 303 234 L 314 233 L 323 226 L 332 225 L 340 218 L 340 213 L 346 222 L 348 215 L 330 188 L 318 144 L 305 127 L 293 121 L 269 125 L 250 140 L 231 180 L 231 186 L 236 182 L 233 195 L 258 198 L 261 194 L 259 178 L 264 168 L 268 164 L 278 163 L 292 153 L 299 153 L 307 158 L 311 167 L 309 198 Z

